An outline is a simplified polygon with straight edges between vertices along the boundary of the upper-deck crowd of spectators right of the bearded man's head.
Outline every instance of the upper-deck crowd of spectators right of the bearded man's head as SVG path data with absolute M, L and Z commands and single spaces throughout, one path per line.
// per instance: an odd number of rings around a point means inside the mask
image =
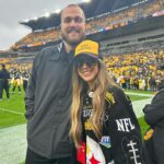
M 152 16 L 155 12 L 163 10 L 164 3 L 162 1 L 154 1 L 152 3 L 141 3 L 121 11 L 107 13 L 89 21 L 86 24 L 87 34 L 125 26 L 141 19 Z

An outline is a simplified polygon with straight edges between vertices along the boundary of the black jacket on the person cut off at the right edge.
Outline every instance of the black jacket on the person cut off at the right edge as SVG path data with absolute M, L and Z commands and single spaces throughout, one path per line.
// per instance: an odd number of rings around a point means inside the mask
M 164 163 L 164 89 L 143 108 L 145 121 L 154 128 L 153 147 L 156 164 Z

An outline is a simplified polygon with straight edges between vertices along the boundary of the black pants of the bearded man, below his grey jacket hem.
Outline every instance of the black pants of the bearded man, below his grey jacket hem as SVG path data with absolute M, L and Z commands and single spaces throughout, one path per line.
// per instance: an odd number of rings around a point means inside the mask
M 71 157 L 47 159 L 27 149 L 25 164 L 71 164 Z

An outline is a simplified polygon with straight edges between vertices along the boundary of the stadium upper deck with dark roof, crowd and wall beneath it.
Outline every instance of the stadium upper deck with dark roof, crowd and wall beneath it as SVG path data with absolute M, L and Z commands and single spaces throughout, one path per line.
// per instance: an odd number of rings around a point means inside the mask
M 82 3 L 81 7 L 87 17 L 87 37 L 96 40 L 164 26 L 164 16 L 156 19 L 156 15 L 164 14 L 163 0 L 131 0 L 130 2 L 92 0 L 91 3 Z M 54 13 L 48 19 L 39 17 L 37 21 L 22 22 L 32 27 L 33 32 L 17 42 L 12 49 L 35 50 L 58 42 L 60 39 L 59 15 L 60 13 Z

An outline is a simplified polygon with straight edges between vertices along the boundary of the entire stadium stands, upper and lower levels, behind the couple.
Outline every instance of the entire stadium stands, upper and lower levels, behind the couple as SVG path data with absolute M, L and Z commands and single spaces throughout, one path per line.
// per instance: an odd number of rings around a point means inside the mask
M 134 0 L 130 4 L 119 4 L 119 8 L 114 8 L 114 2 L 109 0 L 101 2 L 107 3 L 106 8 L 113 4 L 113 8 L 94 12 L 96 0 L 93 0 L 94 4 L 82 4 L 82 8 L 87 17 L 86 35 L 99 40 L 108 71 L 125 89 L 155 91 L 164 75 L 157 69 L 164 62 L 164 1 Z M 48 24 L 49 20 L 54 22 L 52 19 L 56 19 L 56 26 Z M 43 27 L 46 21 L 48 26 Z M 59 15 L 22 24 L 32 27 L 32 33 L 12 46 L 16 57 L 0 61 L 7 63 L 10 70 L 30 70 L 37 51 L 60 42 Z M 152 86 L 152 81 L 155 81 L 155 86 Z

